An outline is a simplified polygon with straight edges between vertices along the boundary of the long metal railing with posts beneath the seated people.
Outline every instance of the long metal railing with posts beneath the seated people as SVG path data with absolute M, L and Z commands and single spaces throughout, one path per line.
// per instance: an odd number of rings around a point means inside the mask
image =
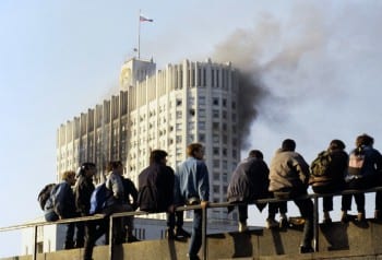
M 275 199 L 275 198 L 268 198 L 268 199 L 259 199 L 254 200 L 251 203 L 228 203 L 228 202 L 218 202 L 218 203 L 208 203 L 206 208 L 202 208 L 200 204 L 198 205 L 184 205 L 184 206 L 178 206 L 176 208 L 176 211 L 190 211 L 190 210 L 202 210 L 202 259 L 207 259 L 207 240 L 206 240 L 206 231 L 207 231 L 207 209 L 213 208 L 227 208 L 231 205 L 240 205 L 240 204 L 254 204 L 254 203 L 272 203 L 272 202 L 279 202 L 279 201 L 293 201 L 293 200 L 299 200 L 299 199 L 312 199 L 314 211 L 313 211 L 313 248 L 314 251 L 319 251 L 319 198 L 329 197 L 329 196 L 343 196 L 343 194 L 355 194 L 355 193 L 369 193 L 369 192 L 375 192 L 375 191 L 382 191 L 382 187 L 375 187 L 367 190 L 343 190 L 341 192 L 335 193 L 308 193 L 306 196 L 291 198 L 291 199 Z M 122 213 L 115 213 L 111 214 L 109 217 L 109 260 L 112 260 L 114 258 L 114 244 L 112 244 L 112 225 L 114 225 L 114 218 L 116 217 L 124 217 L 124 216 L 136 216 L 136 215 L 147 215 L 151 213 L 144 212 L 144 211 L 132 211 L 132 212 L 122 212 Z M 75 217 L 75 218 L 65 218 L 60 220 L 56 222 L 34 222 L 34 223 L 27 223 L 27 224 L 21 224 L 21 225 L 13 225 L 13 226 L 7 226 L 7 227 L 0 227 L 0 232 L 9 232 L 9 231 L 16 231 L 16 229 L 23 229 L 23 228 L 34 228 L 34 244 L 33 244 L 33 260 L 37 260 L 37 228 L 40 226 L 47 226 L 47 225 L 58 225 L 58 224 L 69 224 L 73 222 L 87 222 L 87 221 L 96 221 L 96 220 L 103 220 L 105 218 L 104 214 L 96 214 L 92 216 L 83 216 L 83 217 Z

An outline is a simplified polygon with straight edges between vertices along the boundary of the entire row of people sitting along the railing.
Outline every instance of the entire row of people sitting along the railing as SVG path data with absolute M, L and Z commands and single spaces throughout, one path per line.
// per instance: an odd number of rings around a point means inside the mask
M 308 193 L 309 186 L 317 193 L 333 193 L 345 189 L 363 190 L 380 186 L 382 175 L 382 155 L 373 147 L 373 138 L 361 134 L 356 139 L 356 147 L 345 152 L 345 143 L 331 141 L 327 150 L 310 165 L 297 153 L 296 142 L 283 141 L 275 152 L 270 167 L 260 150 L 252 150 L 249 156 L 240 162 L 231 175 L 227 190 L 227 200 L 231 202 L 228 212 L 238 204 L 239 232 L 248 231 L 248 205 L 258 199 L 277 198 L 293 200 L 303 218 L 303 235 L 300 252 L 311 252 L 313 239 L 313 203 L 301 199 Z M 107 166 L 107 199 L 103 205 L 104 218 L 80 223 L 70 223 L 67 228 L 64 248 L 84 247 L 84 260 L 92 259 L 93 247 L 97 239 L 105 235 L 109 241 L 108 216 L 112 213 L 135 211 L 166 212 L 169 239 L 190 238 L 188 258 L 199 259 L 202 246 L 202 210 L 193 211 L 191 234 L 183 229 L 183 212 L 175 211 L 180 205 L 201 205 L 207 208 L 210 200 L 208 170 L 203 159 L 204 146 L 191 143 L 187 146 L 187 159 L 175 169 L 167 165 L 167 152 L 151 152 L 150 165 L 139 175 L 138 189 L 123 177 L 123 165 L 120 161 L 109 162 Z M 76 216 L 91 215 L 91 197 L 96 187 L 93 176 L 96 173 L 94 163 L 84 163 L 77 173 L 65 172 L 62 181 L 50 192 L 45 204 L 47 221 L 57 221 Z M 348 221 L 347 212 L 351 210 L 351 199 L 357 204 L 357 221 L 365 221 L 365 193 L 344 194 L 342 198 L 342 221 Z M 256 203 L 262 211 L 266 203 Z M 323 197 L 323 221 L 331 223 L 333 197 Z M 267 206 L 267 228 L 288 226 L 287 201 L 270 202 Z M 279 213 L 279 222 L 275 220 Z M 382 192 L 375 194 L 377 218 L 382 218 Z M 114 244 L 139 241 L 133 236 L 133 216 L 116 217 L 112 225 Z M 74 229 L 76 228 L 75 241 Z

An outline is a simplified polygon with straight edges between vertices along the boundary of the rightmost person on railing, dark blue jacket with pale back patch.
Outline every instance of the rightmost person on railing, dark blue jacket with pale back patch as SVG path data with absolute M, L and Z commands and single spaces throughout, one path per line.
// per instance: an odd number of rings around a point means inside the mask
M 381 185 L 382 155 L 373 149 L 374 139 L 366 133 L 356 139 L 356 149 L 350 152 L 349 167 L 345 176 L 346 189 L 363 190 Z M 344 194 L 342 199 L 342 222 L 348 221 L 347 211 L 351 210 L 351 198 L 357 204 L 357 221 L 365 221 L 365 193 Z M 375 193 L 374 217 L 382 218 L 382 192 Z

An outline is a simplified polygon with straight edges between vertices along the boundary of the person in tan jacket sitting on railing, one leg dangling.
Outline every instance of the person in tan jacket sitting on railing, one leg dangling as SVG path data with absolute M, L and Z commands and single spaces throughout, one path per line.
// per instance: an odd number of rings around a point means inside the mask
M 309 165 L 295 149 L 296 142 L 286 139 L 276 151 L 270 165 L 270 191 L 277 199 L 294 199 L 300 210 L 305 220 L 300 252 L 305 253 L 313 251 L 313 202 L 298 198 L 308 194 Z

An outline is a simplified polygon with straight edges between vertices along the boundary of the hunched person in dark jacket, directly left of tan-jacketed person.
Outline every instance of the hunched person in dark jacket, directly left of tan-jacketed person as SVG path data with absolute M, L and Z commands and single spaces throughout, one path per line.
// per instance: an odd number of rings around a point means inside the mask
M 256 199 L 265 199 L 272 197 L 268 192 L 268 175 L 270 169 L 263 161 L 263 153 L 259 150 L 250 151 L 247 158 L 241 161 L 236 167 L 227 189 L 227 199 L 229 202 L 246 202 L 250 203 Z M 286 201 L 268 203 L 268 217 L 266 218 L 266 227 L 273 228 L 279 225 L 275 221 L 275 215 L 280 209 L 286 220 Z M 256 206 L 262 211 L 266 203 L 256 203 Z M 234 210 L 234 206 L 228 206 L 228 213 Z M 239 210 L 239 232 L 248 231 L 248 205 L 238 205 Z

